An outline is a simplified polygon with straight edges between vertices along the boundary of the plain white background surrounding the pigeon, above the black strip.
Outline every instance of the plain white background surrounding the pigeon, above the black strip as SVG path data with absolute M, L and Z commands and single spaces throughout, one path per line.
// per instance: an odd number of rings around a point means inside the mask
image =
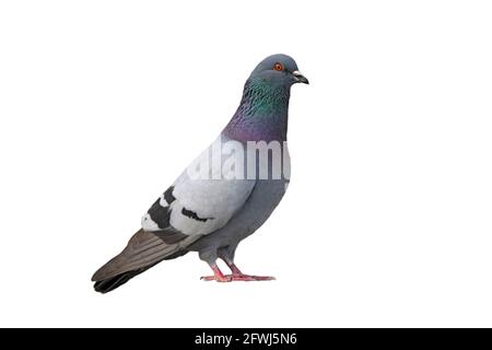
M 492 326 L 490 1 L 2 1 L 1 326 Z M 311 85 L 292 182 L 237 262 L 90 278 L 263 57 Z

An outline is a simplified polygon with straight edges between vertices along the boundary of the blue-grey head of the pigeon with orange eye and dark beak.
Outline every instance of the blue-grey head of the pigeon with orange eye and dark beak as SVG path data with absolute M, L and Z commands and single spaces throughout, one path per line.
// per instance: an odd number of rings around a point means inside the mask
M 288 55 L 272 55 L 263 59 L 251 72 L 249 80 L 261 81 L 273 86 L 292 86 L 295 83 L 308 84 L 301 74 L 294 59 Z

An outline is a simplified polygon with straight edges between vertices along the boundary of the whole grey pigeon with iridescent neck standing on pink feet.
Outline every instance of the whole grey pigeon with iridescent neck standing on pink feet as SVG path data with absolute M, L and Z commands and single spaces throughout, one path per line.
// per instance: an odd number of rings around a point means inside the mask
M 247 79 L 236 113 L 220 136 L 178 176 L 141 220 L 126 248 L 92 277 L 115 290 L 154 265 L 197 252 L 213 271 L 206 281 L 266 281 L 243 273 L 236 248 L 279 205 L 290 182 L 286 147 L 291 86 L 308 84 L 293 58 L 265 58 Z M 224 275 L 216 261 L 231 269 Z

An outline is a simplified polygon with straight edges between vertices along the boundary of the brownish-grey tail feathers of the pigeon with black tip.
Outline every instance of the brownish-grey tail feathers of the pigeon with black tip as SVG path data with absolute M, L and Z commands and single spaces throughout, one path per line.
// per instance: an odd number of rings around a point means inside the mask
M 92 281 L 95 282 L 95 291 L 110 292 L 162 260 L 186 254 L 183 249 L 187 245 L 186 241 L 184 237 L 180 242 L 169 244 L 152 232 L 138 231 L 119 255 L 94 273 Z

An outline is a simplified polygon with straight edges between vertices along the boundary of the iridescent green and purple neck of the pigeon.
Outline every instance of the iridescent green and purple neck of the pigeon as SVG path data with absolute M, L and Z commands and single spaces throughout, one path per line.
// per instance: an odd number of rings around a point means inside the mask
M 239 107 L 224 129 L 238 141 L 285 141 L 290 86 L 246 81 Z

